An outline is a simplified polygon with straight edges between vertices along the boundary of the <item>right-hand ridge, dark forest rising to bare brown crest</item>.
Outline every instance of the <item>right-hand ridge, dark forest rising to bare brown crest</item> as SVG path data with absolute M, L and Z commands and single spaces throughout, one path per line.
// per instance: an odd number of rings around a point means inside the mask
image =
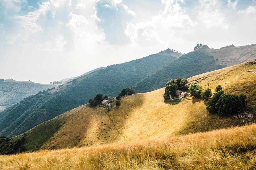
M 256 58 L 256 44 L 235 47 L 233 45 L 220 49 L 201 46 L 195 51 L 183 55 L 175 62 L 168 63 L 133 87 L 137 92 L 148 92 L 164 87 L 165 82 L 178 77 L 191 76 L 217 70 L 254 60 Z

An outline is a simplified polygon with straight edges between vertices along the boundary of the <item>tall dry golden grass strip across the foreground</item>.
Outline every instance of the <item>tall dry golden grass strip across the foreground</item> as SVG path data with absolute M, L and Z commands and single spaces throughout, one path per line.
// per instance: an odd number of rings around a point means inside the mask
M 256 125 L 0 156 L 0 169 L 255 169 Z

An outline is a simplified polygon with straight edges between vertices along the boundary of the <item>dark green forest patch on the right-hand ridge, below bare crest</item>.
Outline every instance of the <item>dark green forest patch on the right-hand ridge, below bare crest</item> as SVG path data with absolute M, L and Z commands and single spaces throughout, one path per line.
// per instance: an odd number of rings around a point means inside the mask
M 156 90 L 165 87 L 165 83 L 170 79 L 178 77 L 189 78 L 197 74 L 221 69 L 221 65 L 216 65 L 213 56 L 206 55 L 204 51 L 193 51 L 182 55 L 164 67 L 160 68 L 148 77 L 139 81 L 133 86 L 138 93 Z

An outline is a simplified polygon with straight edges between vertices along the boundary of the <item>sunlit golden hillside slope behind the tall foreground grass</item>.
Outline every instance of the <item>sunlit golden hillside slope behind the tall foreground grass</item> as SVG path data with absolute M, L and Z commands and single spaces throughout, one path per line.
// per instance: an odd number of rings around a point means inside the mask
M 246 72 L 251 69 L 256 71 L 256 65 L 250 63 L 235 65 L 191 77 L 189 83 L 197 82 L 204 89 L 210 88 L 212 91 L 215 91 L 215 87 L 221 84 L 226 93 L 246 93 L 247 108 L 255 111 L 256 74 Z M 244 75 L 240 76 L 240 74 Z M 229 84 L 226 85 L 226 82 Z M 42 148 L 60 149 L 156 139 L 242 126 L 254 122 L 254 120 L 235 117 L 209 115 L 204 102 L 191 97 L 175 103 L 165 103 L 163 93 L 162 88 L 123 97 L 121 106 L 107 113 L 111 120 L 102 107 L 90 108 L 88 105 L 83 105 L 70 110 L 61 115 L 63 118 L 59 120 L 65 124 L 44 143 Z M 46 130 L 47 128 L 51 126 L 45 126 Z M 28 140 L 35 139 L 29 135 L 27 138 Z

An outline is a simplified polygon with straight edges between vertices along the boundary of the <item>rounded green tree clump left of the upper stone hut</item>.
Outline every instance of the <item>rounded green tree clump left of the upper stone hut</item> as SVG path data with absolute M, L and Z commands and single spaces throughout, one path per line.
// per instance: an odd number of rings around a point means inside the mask
M 188 81 L 187 79 L 177 78 L 171 79 L 165 84 L 164 99 L 170 99 L 170 97 L 176 96 L 176 90 L 187 90 Z

